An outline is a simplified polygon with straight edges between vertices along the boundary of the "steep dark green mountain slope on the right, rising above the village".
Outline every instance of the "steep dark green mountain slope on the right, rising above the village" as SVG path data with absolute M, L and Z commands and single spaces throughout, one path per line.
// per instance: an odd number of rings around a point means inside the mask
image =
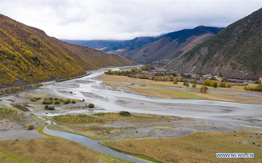
M 221 30 L 211 39 L 171 60 L 173 70 L 222 72 L 226 77 L 261 77 L 262 8 Z

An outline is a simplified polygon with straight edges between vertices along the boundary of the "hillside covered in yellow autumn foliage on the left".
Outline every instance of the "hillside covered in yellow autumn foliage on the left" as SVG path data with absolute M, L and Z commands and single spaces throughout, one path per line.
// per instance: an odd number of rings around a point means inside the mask
M 49 37 L 43 30 L 0 15 L 0 86 L 85 74 L 84 69 L 133 61 Z

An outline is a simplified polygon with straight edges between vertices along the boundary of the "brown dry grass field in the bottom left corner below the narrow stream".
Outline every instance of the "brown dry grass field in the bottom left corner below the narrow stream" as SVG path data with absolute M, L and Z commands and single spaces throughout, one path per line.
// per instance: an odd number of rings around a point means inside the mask
M 65 139 L 41 138 L 0 141 L 0 162 L 123 162 Z M 128 162 L 128 161 L 125 161 Z

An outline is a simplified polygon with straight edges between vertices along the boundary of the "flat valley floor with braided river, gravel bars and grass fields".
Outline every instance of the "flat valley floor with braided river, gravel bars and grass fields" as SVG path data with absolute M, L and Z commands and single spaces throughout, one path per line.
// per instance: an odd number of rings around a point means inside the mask
M 104 71 L 1 97 L 0 162 L 131 162 L 130 155 L 141 162 L 260 162 L 261 93 L 233 87 L 204 94 L 199 86 L 100 75 Z M 56 109 L 45 109 L 44 98 Z M 122 110 L 131 116 L 117 113 Z M 116 158 L 87 142 L 48 135 L 37 116 L 51 121 L 49 131 L 83 135 L 108 147 L 103 150 L 128 155 Z M 254 158 L 216 158 L 219 152 L 254 153 Z

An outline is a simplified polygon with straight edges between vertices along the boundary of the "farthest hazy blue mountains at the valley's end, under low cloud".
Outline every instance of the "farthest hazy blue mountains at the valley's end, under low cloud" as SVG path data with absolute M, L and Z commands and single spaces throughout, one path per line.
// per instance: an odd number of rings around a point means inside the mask
M 153 42 L 160 37 L 162 37 L 162 35 L 157 37 L 136 37 L 132 40 L 61 40 L 71 44 L 103 50 L 110 54 L 123 54 Z

